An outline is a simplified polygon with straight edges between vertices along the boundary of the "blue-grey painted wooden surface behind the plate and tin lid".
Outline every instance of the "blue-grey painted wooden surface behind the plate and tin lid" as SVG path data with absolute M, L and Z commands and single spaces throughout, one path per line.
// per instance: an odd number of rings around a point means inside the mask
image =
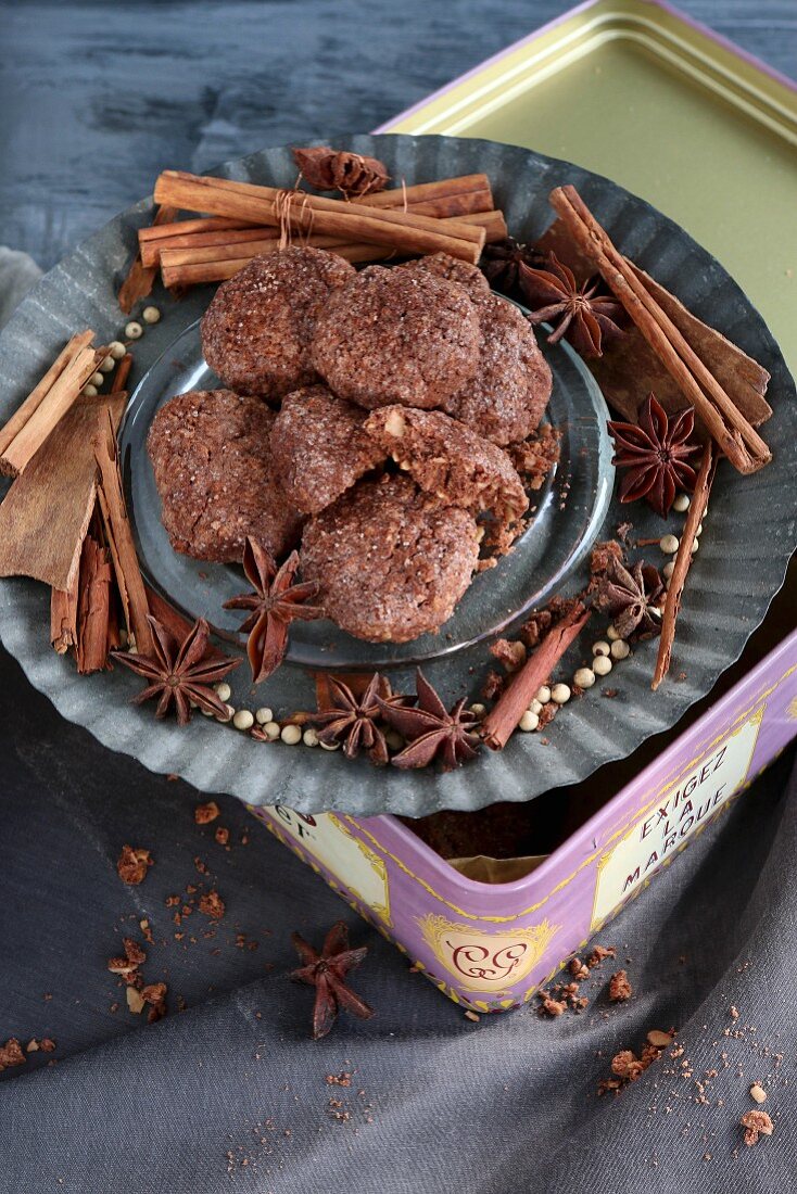
M 569 7 L 0 0 L 0 244 L 47 269 L 163 167 L 368 131 Z M 681 8 L 797 75 L 797 0 Z

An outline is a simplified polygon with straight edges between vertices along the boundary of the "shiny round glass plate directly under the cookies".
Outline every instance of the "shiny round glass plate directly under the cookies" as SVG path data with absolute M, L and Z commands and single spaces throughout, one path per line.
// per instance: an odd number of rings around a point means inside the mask
M 509 301 L 509 300 L 505 300 Z M 480 573 L 437 634 L 411 642 L 372 644 L 355 639 L 326 620 L 292 627 L 287 660 L 307 669 L 397 667 L 452 656 L 502 633 L 558 592 L 594 543 L 612 498 L 614 469 L 606 431 L 608 412 L 591 375 L 569 345 L 550 346 L 539 334 L 553 375 L 547 410 L 562 436 L 559 463 L 542 488 L 529 493 L 533 518 L 515 549 Z M 237 566 L 179 555 L 160 519 L 160 498 L 146 439 L 155 412 L 190 389 L 215 389 L 216 375 L 202 358 L 200 321 L 191 324 L 154 363 L 137 386 L 121 433 L 123 476 L 142 570 L 149 584 L 192 621 L 206 617 L 228 641 L 239 610 L 223 610 L 247 587 Z

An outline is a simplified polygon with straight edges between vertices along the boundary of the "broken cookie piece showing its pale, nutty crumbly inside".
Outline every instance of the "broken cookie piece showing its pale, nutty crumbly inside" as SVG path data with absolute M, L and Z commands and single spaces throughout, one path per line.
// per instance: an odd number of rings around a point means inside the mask
M 478 515 L 489 511 L 501 528 L 521 530 L 528 498 L 501 448 L 442 411 L 387 406 L 374 411 L 366 430 L 425 493 Z M 514 535 L 503 536 L 507 550 Z

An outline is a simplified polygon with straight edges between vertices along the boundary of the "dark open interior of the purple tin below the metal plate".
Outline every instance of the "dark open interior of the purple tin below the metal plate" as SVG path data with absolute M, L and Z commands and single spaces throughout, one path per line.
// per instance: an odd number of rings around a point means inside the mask
M 599 768 L 582 783 L 552 788 L 534 800 L 502 801 L 476 812 L 443 811 L 418 820 L 401 818 L 403 823 L 435 854 L 468 879 L 488 884 L 521 879 L 553 854 L 773 651 L 793 630 L 795 610 L 797 555 L 792 556 L 786 581 L 772 602 L 766 620 L 752 635 L 738 660 L 719 677 L 711 693 L 698 701 L 670 731 L 648 739 L 627 758 Z M 688 669 L 688 659 L 682 663 Z M 508 749 L 513 749 L 511 741 Z M 562 736 L 556 746 L 534 743 L 534 749 L 566 750 L 566 737 Z

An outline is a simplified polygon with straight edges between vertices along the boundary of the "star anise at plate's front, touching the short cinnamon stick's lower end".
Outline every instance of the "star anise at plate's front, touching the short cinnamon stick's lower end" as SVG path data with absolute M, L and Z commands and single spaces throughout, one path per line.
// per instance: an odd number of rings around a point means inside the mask
M 385 720 L 409 743 L 393 756 L 393 765 L 405 769 L 427 767 L 440 755 L 443 770 L 450 771 L 465 759 L 474 758 L 479 746 L 476 733 L 478 719 L 465 712 L 467 702 L 458 701 L 449 713 L 419 667 L 415 687 L 417 708 L 405 708 L 376 697 Z

